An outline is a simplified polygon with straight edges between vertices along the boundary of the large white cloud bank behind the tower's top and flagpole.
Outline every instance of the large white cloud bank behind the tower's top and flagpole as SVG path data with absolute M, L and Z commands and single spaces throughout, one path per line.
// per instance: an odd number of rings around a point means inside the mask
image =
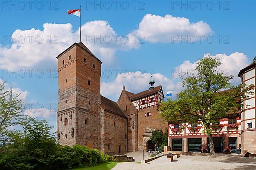
M 79 42 L 80 29 L 73 32 L 70 23 L 45 23 L 43 28 L 14 31 L 12 41 L 15 43 L 10 47 L 0 46 L 0 68 L 35 68 L 35 65 L 43 67 L 43 62 L 56 62 L 55 57 L 58 54 L 73 42 Z M 109 60 L 113 58 L 116 50 L 128 50 L 139 46 L 132 43 L 133 41 L 122 43 L 123 39 L 115 36 L 116 32 L 107 21 L 87 22 L 81 26 L 81 33 L 84 44 L 106 63 L 110 63 Z

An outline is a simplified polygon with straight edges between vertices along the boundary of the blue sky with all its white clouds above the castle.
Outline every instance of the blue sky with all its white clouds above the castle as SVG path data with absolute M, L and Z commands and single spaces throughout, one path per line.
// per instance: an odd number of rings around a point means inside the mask
M 125 9 L 127 4 L 129 6 Z M 33 103 L 27 114 L 45 118 L 51 125 L 56 124 L 56 114 L 52 110 L 58 102 L 55 57 L 73 42 L 79 42 L 79 17 L 67 14 L 67 9 L 76 9 L 79 5 L 82 41 L 103 62 L 102 95 L 115 101 L 122 85 L 134 93 L 148 88 L 151 74 L 156 85 L 163 86 L 165 93 L 173 89 L 177 94 L 182 88 L 174 72 L 195 68 L 195 62 L 205 54 L 220 57 L 224 62 L 221 69 L 228 69 L 235 75 L 256 55 L 254 0 L 205 0 L 202 4 L 198 1 L 120 0 L 116 8 L 113 1 L 35 0 L 32 4 L 27 1 L 1 1 L 0 79 L 7 81 L 8 87 L 12 86 L 17 93 L 22 93 L 26 104 Z M 140 34 L 144 40 L 142 44 L 133 43 L 131 39 L 127 44 L 93 41 L 86 44 L 86 35 L 113 34 Z M 28 39 L 24 43 L 13 42 L 10 38 L 6 40 L 9 35 L 17 35 L 20 40 L 23 36 L 40 35 L 44 41 L 41 44 L 35 39 L 31 43 Z M 54 35 L 58 36 L 58 44 L 47 42 L 48 36 L 55 40 Z M 175 36 L 186 35 L 190 38 L 204 35 L 204 38 L 202 42 L 195 43 L 192 39 L 181 43 L 180 40 L 171 40 Z M 207 42 L 207 36 L 213 37 L 214 41 Z M 109 70 L 111 76 L 108 76 Z M 115 70 L 117 76 L 114 75 Z M 124 73 L 127 71 L 126 76 Z M 135 74 L 136 71 L 141 73 Z M 42 77 L 41 72 L 44 73 Z M 235 79 L 233 84 L 238 82 Z M 41 106 L 45 110 L 38 109 Z

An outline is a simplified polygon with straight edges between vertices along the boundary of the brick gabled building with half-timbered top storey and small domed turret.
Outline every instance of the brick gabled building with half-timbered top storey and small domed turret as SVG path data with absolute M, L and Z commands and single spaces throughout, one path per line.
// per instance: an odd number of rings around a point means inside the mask
M 128 151 L 154 148 L 152 131 L 167 127 L 167 123 L 159 118 L 158 111 L 164 99 L 163 89 L 161 85 L 154 87 L 154 83 L 151 76 L 149 89 L 137 94 L 126 91 L 123 86 L 118 99 L 117 103 L 128 117 Z

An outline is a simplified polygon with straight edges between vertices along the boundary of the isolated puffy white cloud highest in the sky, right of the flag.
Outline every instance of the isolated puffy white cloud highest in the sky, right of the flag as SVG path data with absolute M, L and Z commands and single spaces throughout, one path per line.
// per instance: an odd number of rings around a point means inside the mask
M 198 36 L 209 35 L 212 32 L 210 26 L 204 21 L 198 21 L 197 23 L 191 23 L 189 19 L 185 17 L 173 17 L 170 14 L 164 17 L 159 15 L 146 14 L 139 24 L 139 28 L 133 31 L 133 34 L 143 35 L 145 40 L 149 42 L 172 42 L 175 39 L 174 36 L 186 35 Z M 200 40 L 200 37 L 197 37 Z M 194 41 L 191 40 L 191 41 Z

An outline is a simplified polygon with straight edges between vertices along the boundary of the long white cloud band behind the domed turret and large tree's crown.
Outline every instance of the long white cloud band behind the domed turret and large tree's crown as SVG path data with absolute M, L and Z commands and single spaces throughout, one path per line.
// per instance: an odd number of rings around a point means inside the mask
M 208 55 L 210 54 L 204 54 L 204 57 Z M 244 53 L 239 52 L 230 55 L 216 54 L 212 57 L 221 59 L 222 64 L 218 69 L 224 71 L 224 73 L 233 74 L 235 77 L 231 82 L 233 85 L 239 84 L 239 77 L 237 77 L 237 74 L 242 68 L 249 64 L 248 57 Z M 183 89 L 179 73 L 183 75 L 185 73 L 195 73 L 197 62 L 198 61 L 192 63 L 185 60 L 182 64 L 173 69 L 172 78 L 170 79 L 159 73 L 153 74 L 153 78 L 156 82 L 155 86 L 162 85 L 164 94 L 166 94 L 167 91 L 173 90 L 173 96 L 175 97 L 175 95 Z M 122 85 L 125 85 L 127 91 L 138 93 L 149 88 L 148 82 L 150 78 L 150 73 L 142 74 L 139 71 L 135 73 L 128 72 L 128 74 L 118 74 L 116 79 L 112 82 L 101 83 L 101 94 L 116 101 L 121 94 Z

